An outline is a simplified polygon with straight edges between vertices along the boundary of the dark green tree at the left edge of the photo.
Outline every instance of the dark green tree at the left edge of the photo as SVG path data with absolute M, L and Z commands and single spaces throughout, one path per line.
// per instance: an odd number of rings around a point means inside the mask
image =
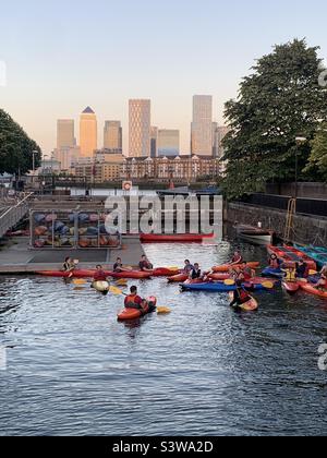
M 0 109 L 0 173 L 27 173 L 33 169 L 33 155 L 38 167 L 41 159 L 39 146 Z

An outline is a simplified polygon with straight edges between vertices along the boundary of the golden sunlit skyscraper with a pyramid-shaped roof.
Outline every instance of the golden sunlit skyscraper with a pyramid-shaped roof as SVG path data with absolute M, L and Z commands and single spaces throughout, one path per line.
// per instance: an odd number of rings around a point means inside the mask
M 93 157 L 98 146 L 98 124 L 96 113 L 87 107 L 80 120 L 80 146 L 82 157 Z

